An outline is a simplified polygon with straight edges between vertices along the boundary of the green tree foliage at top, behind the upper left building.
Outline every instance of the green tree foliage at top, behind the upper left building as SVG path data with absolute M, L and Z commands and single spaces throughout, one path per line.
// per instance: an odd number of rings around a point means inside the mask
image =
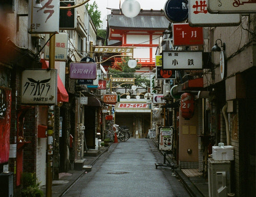
M 93 1 L 93 4 L 86 3 L 85 7 L 98 30 L 101 27 L 102 21 L 100 20 L 101 12 L 98 10 L 96 1 Z

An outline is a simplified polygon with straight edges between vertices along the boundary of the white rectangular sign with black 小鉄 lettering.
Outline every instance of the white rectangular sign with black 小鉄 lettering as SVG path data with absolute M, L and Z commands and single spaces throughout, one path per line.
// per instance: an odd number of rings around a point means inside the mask
M 163 51 L 163 69 L 203 69 L 202 51 Z

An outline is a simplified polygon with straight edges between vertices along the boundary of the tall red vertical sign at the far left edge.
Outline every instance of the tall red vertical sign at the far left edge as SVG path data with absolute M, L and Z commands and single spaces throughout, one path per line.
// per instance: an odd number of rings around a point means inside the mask
M 9 160 L 11 95 L 11 89 L 0 87 L 0 163 L 6 163 Z

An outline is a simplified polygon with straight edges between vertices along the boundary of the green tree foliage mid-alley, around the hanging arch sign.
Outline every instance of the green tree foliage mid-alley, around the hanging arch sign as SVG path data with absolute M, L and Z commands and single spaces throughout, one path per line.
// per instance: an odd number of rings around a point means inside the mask
M 147 88 L 150 87 L 150 80 L 147 77 L 143 77 L 141 75 L 135 74 L 136 69 L 139 69 L 141 65 L 137 64 L 137 66 L 132 69 L 128 66 L 129 57 L 122 58 L 122 62 L 118 64 L 118 69 L 109 68 L 109 73 L 111 73 L 113 78 L 135 78 L 135 85 L 137 87 Z M 110 76 L 109 76 L 110 77 Z M 112 86 L 117 86 L 118 83 L 112 83 Z M 130 89 L 132 84 L 123 84 L 121 87 L 125 89 Z

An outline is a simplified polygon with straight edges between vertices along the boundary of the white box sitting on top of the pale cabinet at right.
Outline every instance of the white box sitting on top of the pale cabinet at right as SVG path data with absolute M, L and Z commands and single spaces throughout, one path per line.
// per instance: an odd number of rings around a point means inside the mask
M 234 147 L 232 146 L 213 146 L 212 159 L 215 161 L 234 160 Z

